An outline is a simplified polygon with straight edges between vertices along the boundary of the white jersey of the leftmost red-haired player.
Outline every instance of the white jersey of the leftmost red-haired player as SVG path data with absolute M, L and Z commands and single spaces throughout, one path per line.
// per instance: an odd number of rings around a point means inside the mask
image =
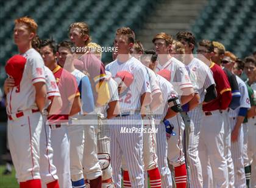
M 20 86 L 13 87 L 7 93 L 7 113 L 38 109 L 35 103 L 35 87 L 37 82 L 46 82 L 44 62 L 41 55 L 35 49 L 29 49 L 21 54 L 27 59 Z

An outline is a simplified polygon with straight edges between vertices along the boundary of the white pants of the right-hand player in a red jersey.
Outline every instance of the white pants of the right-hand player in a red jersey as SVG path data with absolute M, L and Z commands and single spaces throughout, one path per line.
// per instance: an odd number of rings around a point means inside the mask
M 203 116 L 199 138 L 199 158 L 202 164 L 204 187 L 209 187 L 213 180 L 214 187 L 228 187 L 227 163 L 224 158 L 224 121 L 219 110 L 210 116 Z M 213 178 L 210 178 L 207 166 L 212 168 Z

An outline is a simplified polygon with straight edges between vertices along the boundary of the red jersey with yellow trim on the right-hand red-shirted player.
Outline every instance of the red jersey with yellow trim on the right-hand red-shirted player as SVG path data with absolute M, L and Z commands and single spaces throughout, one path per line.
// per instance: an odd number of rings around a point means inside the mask
M 204 112 L 210 112 L 213 110 L 224 110 L 224 109 L 221 109 L 221 106 L 222 106 L 221 103 L 222 102 L 230 103 L 232 99 L 229 79 L 227 78 L 227 75 L 224 72 L 224 70 L 222 70 L 221 67 L 219 67 L 219 65 L 216 65 L 214 62 L 212 62 L 212 65 L 210 65 L 210 69 L 213 72 L 213 78 L 216 83 L 217 98 L 203 105 Z M 230 92 L 230 96 L 231 96 L 230 101 L 224 101 L 222 99 L 222 94 L 224 92 Z

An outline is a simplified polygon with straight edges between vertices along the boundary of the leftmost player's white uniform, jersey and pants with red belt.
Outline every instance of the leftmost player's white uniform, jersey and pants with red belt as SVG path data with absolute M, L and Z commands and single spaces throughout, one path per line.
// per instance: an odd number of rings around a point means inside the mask
M 35 104 L 37 82 L 46 82 L 44 63 L 35 49 L 22 54 L 26 59 L 20 87 L 7 93 L 8 139 L 18 182 L 40 179 L 40 133 L 43 117 Z

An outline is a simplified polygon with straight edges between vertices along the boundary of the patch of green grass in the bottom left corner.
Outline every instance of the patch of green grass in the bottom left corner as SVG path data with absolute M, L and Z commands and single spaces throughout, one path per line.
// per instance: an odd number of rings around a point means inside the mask
M 0 188 L 18 188 L 19 184 L 15 178 L 15 170 L 13 167 L 12 174 L 2 175 L 5 170 L 5 166 L 0 166 Z

